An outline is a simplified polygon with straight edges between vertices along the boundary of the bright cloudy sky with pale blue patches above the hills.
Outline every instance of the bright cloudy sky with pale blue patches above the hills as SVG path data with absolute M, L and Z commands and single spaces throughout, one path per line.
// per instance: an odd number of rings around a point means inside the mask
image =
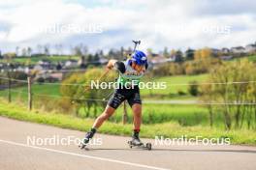
M 256 41 L 252 0 L 2 0 L 0 50 L 80 42 L 91 51 L 231 47 Z

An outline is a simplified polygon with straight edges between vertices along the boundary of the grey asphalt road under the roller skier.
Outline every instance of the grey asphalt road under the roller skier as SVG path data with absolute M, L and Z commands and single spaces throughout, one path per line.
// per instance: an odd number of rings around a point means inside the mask
M 83 135 L 84 132 L 77 130 L 0 117 L 0 169 L 256 169 L 256 147 L 176 144 L 153 145 L 151 151 L 146 151 L 130 149 L 127 145 L 129 137 L 96 134 L 96 145 L 89 146 L 85 151 L 76 144 Z M 71 139 L 69 145 L 68 137 Z M 152 144 L 155 142 L 152 139 L 143 140 Z

